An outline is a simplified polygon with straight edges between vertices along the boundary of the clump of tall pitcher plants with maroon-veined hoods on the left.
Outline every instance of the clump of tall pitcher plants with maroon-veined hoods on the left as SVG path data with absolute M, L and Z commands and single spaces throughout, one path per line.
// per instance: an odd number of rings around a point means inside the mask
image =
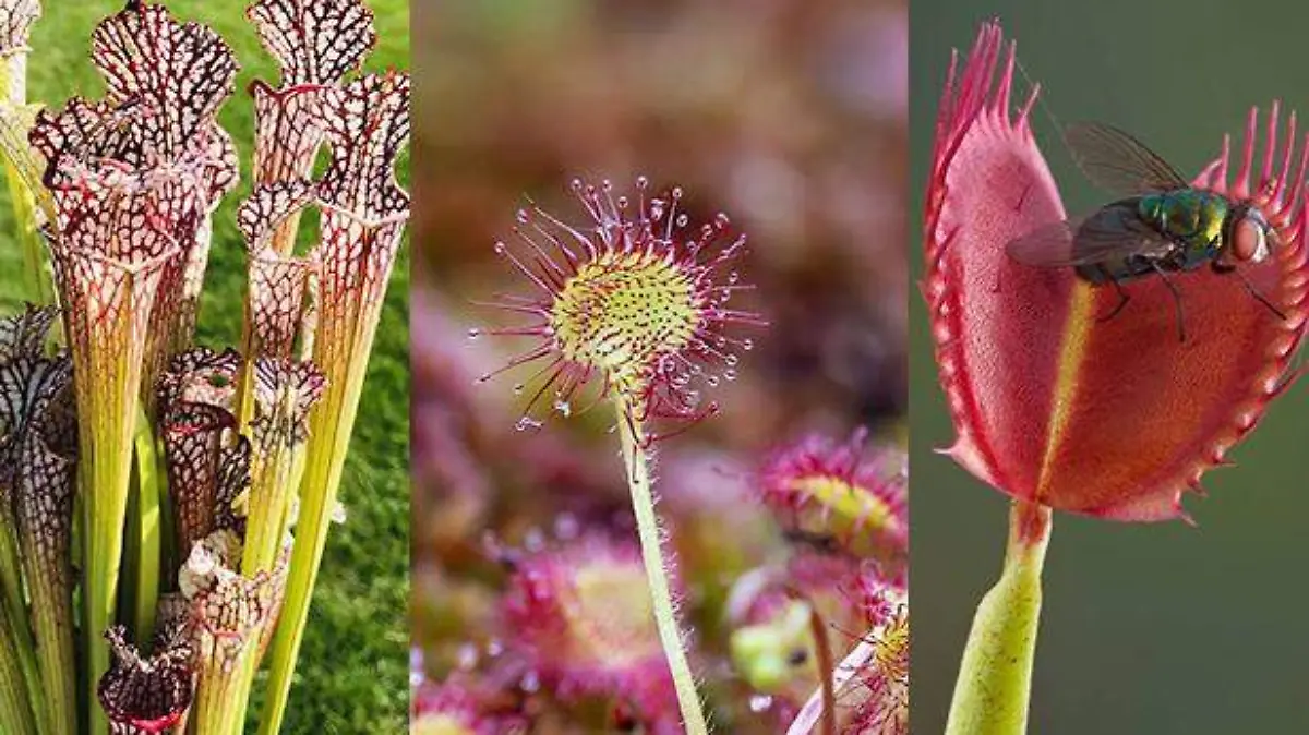
M 0 3 L 0 106 L 31 303 L 0 327 L 0 731 L 243 730 L 285 713 L 382 297 L 408 217 L 404 72 L 361 73 L 359 0 L 245 9 L 281 68 L 255 136 L 237 60 L 131 1 L 101 98 L 29 103 L 33 0 Z M 251 156 L 243 331 L 195 344 L 215 214 Z

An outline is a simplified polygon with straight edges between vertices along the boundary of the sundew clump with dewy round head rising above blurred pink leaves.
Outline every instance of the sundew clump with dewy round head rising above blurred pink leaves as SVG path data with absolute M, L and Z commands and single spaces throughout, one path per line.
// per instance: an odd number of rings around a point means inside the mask
M 903 454 L 869 450 L 860 430 L 763 458 L 741 477 L 740 502 L 795 544 L 709 582 L 724 624 L 692 632 L 692 590 L 706 583 L 672 553 L 682 530 L 656 509 L 657 460 L 720 413 L 716 388 L 741 378 L 766 337 L 746 307 L 746 235 L 724 213 L 696 221 L 681 187 L 645 177 L 569 188 L 580 224 L 533 204 L 493 246 L 522 290 L 482 306 L 518 322 L 470 336 L 531 343 L 475 382 L 521 375 L 520 433 L 613 412 L 611 470 L 627 480 L 635 528 L 572 519 L 521 548 L 490 543 L 507 570 L 501 637 L 484 651 L 470 642 L 458 671 L 419 685 L 415 731 L 555 731 L 559 708 L 584 731 L 733 732 L 766 719 L 795 734 L 906 732 Z

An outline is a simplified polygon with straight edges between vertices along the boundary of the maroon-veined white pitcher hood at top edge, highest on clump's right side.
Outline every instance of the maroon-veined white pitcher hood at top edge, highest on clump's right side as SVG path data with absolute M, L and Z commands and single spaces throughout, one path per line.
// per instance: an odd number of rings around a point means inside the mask
M 360 0 L 258 0 L 246 17 L 287 86 L 336 84 L 377 43 L 373 12 Z

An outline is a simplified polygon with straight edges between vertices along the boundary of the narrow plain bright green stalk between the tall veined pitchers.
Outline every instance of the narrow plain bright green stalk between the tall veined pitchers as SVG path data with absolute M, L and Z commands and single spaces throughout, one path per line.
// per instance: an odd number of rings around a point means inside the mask
M 154 430 L 143 411 L 136 417 L 136 492 L 127 518 L 132 551 L 132 636 L 149 641 L 154 634 L 154 612 L 160 596 L 160 456 Z

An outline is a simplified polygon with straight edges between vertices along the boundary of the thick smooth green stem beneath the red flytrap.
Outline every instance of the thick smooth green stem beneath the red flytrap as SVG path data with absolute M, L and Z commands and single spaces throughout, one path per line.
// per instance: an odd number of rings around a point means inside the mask
M 1014 501 L 1000 581 L 982 598 L 963 649 L 946 735 L 1028 731 L 1050 509 Z

